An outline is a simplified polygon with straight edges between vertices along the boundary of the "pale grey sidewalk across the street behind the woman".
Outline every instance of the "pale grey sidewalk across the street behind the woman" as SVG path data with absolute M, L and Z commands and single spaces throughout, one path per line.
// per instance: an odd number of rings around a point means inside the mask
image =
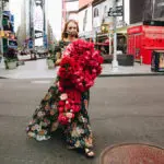
M 24 66 L 19 66 L 15 70 L 5 70 L 0 66 L 0 78 L 10 79 L 51 79 L 55 78 L 57 69 L 49 70 L 46 59 L 25 61 Z M 112 65 L 104 63 L 103 71 L 99 77 L 128 77 L 128 75 L 164 75 L 164 72 L 151 72 L 148 65 L 140 66 L 134 63 L 133 67 L 119 66 L 118 69 L 113 70 Z

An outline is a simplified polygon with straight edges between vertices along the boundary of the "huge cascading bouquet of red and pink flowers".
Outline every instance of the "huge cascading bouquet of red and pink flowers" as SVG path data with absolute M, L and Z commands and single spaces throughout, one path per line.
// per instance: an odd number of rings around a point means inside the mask
M 95 78 L 101 73 L 103 58 L 94 49 L 94 44 L 82 39 L 71 43 L 62 56 L 58 70 L 58 89 L 61 93 L 58 120 L 67 125 L 81 109 L 81 93 L 93 86 Z

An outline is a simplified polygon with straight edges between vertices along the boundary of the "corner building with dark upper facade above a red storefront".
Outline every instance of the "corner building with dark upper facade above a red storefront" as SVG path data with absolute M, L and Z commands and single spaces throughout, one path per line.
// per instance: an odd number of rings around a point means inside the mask
M 163 0 L 131 0 L 127 51 L 137 61 L 151 65 L 154 50 L 164 49 Z

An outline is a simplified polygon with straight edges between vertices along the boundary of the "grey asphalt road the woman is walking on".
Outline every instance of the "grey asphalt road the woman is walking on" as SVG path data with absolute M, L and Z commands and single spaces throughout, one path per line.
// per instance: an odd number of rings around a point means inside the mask
M 148 143 L 164 148 L 164 77 L 99 78 L 89 108 L 94 160 L 67 150 L 60 132 L 27 139 L 25 127 L 52 79 L 0 79 L 0 164 L 98 164 L 106 147 Z

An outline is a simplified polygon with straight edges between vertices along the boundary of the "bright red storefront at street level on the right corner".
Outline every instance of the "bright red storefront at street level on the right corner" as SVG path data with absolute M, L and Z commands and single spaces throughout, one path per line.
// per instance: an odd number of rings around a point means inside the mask
M 147 24 L 147 25 L 145 25 Z M 153 50 L 164 49 L 164 23 L 143 22 L 142 25 L 128 28 L 128 54 L 145 65 L 151 65 Z

